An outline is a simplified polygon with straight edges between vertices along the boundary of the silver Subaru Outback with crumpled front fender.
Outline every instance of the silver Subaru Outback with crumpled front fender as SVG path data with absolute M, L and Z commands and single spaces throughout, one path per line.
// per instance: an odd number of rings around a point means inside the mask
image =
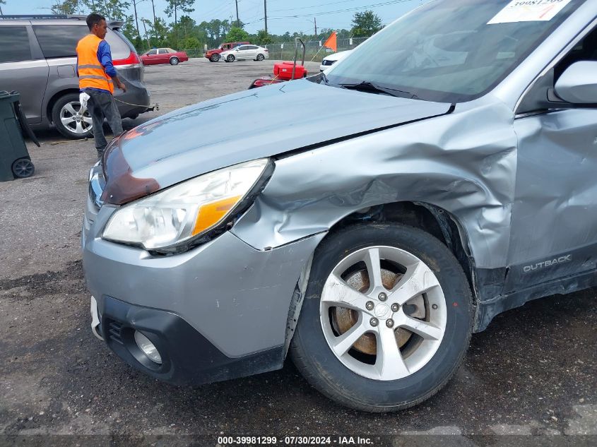
M 290 354 L 338 403 L 410 407 L 500 312 L 597 285 L 596 172 L 597 2 L 430 1 L 326 73 L 114 141 L 93 331 L 170 383 Z

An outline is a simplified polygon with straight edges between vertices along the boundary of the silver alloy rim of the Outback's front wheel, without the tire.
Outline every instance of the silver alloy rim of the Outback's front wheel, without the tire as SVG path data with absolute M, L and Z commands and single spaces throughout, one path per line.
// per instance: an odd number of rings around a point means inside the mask
M 427 264 L 396 247 L 371 246 L 333 268 L 319 316 L 340 362 L 368 379 L 393 381 L 415 373 L 437 352 L 447 309 Z

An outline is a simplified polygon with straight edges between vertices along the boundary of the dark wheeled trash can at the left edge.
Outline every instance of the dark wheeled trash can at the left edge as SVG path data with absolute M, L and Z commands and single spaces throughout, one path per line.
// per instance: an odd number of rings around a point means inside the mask
M 16 92 L 0 91 L 0 181 L 31 177 L 35 171 L 23 140 L 23 132 L 37 146 L 40 143 L 21 112 L 19 97 Z

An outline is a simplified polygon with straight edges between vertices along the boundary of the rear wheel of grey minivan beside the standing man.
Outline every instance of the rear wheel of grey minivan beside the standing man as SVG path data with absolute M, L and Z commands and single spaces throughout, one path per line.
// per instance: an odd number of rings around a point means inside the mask
M 87 109 L 81 110 L 78 93 L 60 97 L 52 107 L 52 121 L 66 138 L 89 138 L 93 136 L 93 122 Z

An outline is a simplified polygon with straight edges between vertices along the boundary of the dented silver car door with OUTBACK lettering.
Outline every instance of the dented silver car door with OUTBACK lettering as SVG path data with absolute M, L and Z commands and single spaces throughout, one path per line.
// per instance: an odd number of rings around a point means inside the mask
M 597 29 L 538 81 L 540 97 L 555 100 L 557 78 L 582 60 L 597 61 Z M 597 106 L 553 102 L 518 114 L 514 131 L 518 165 L 504 292 L 591 272 L 597 264 Z

